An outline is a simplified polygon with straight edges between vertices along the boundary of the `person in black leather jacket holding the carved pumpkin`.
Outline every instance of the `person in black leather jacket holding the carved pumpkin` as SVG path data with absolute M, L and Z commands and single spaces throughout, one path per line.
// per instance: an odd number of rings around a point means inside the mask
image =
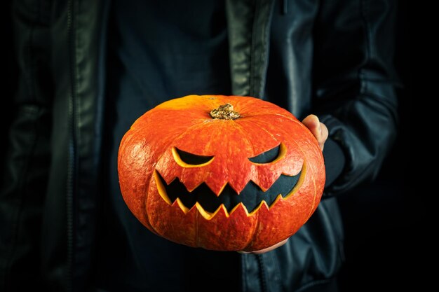
M 0 193 L 0 290 L 337 291 L 336 195 L 396 136 L 393 1 L 15 1 L 20 69 Z M 323 200 L 290 239 L 207 251 L 147 231 L 119 190 L 133 121 L 189 94 L 266 99 L 323 148 Z

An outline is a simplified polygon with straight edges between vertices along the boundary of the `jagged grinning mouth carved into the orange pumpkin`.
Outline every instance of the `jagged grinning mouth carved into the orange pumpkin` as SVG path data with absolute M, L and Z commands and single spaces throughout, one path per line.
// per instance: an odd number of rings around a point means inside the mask
M 277 197 L 287 197 L 295 193 L 295 190 L 302 184 L 302 176 L 305 172 L 304 166 L 302 166 L 299 174 L 295 176 L 281 174 L 271 188 L 265 192 L 256 183 L 250 181 L 238 195 L 227 184 L 219 196 L 215 195 L 205 183 L 201 183 L 200 186 L 189 192 L 178 178 L 167 184 L 157 171 L 155 172 L 155 178 L 158 193 L 168 204 L 173 204 L 178 198 L 184 207 L 191 209 L 198 202 L 205 211 L 210 213 L 215 212 L 223 204 L 230 214 L 239 203 L 243 203 L 249 213 L 257 209 L 263 201 L 271 207 Z

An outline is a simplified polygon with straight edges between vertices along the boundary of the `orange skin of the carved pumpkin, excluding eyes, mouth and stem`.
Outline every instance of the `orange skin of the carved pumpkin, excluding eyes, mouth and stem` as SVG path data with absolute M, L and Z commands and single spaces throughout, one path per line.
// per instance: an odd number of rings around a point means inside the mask
M 240 118 L 210 116 L 227 103 Z M 284 151 L 273 162 L 249 160 L 280 144 Z M 175 148 L 213 159 L 185 165 Z M 290 237 L 316 210 L 325 184 L 323 155 L 313 134 L 290 112 L 252 97 L 189 95 L 156 106 L 123 137 L 118 170 L 123 199 L 149 230 L 218 251 L 256 251 Z M 262 201 L 254 210 L 239 203 L 229 211 L 221 205 L 209 212 L 201 204 L 189 209 L 180 199 L 166 197 L 165 184 L 175 179 L 189 192 L 205 183 L 220 196 L 227 184 L 237 194 L 251 181 L 268 190 L 281 174 L 299 173 L 288 195 L 279 195 L 270 206 Z

